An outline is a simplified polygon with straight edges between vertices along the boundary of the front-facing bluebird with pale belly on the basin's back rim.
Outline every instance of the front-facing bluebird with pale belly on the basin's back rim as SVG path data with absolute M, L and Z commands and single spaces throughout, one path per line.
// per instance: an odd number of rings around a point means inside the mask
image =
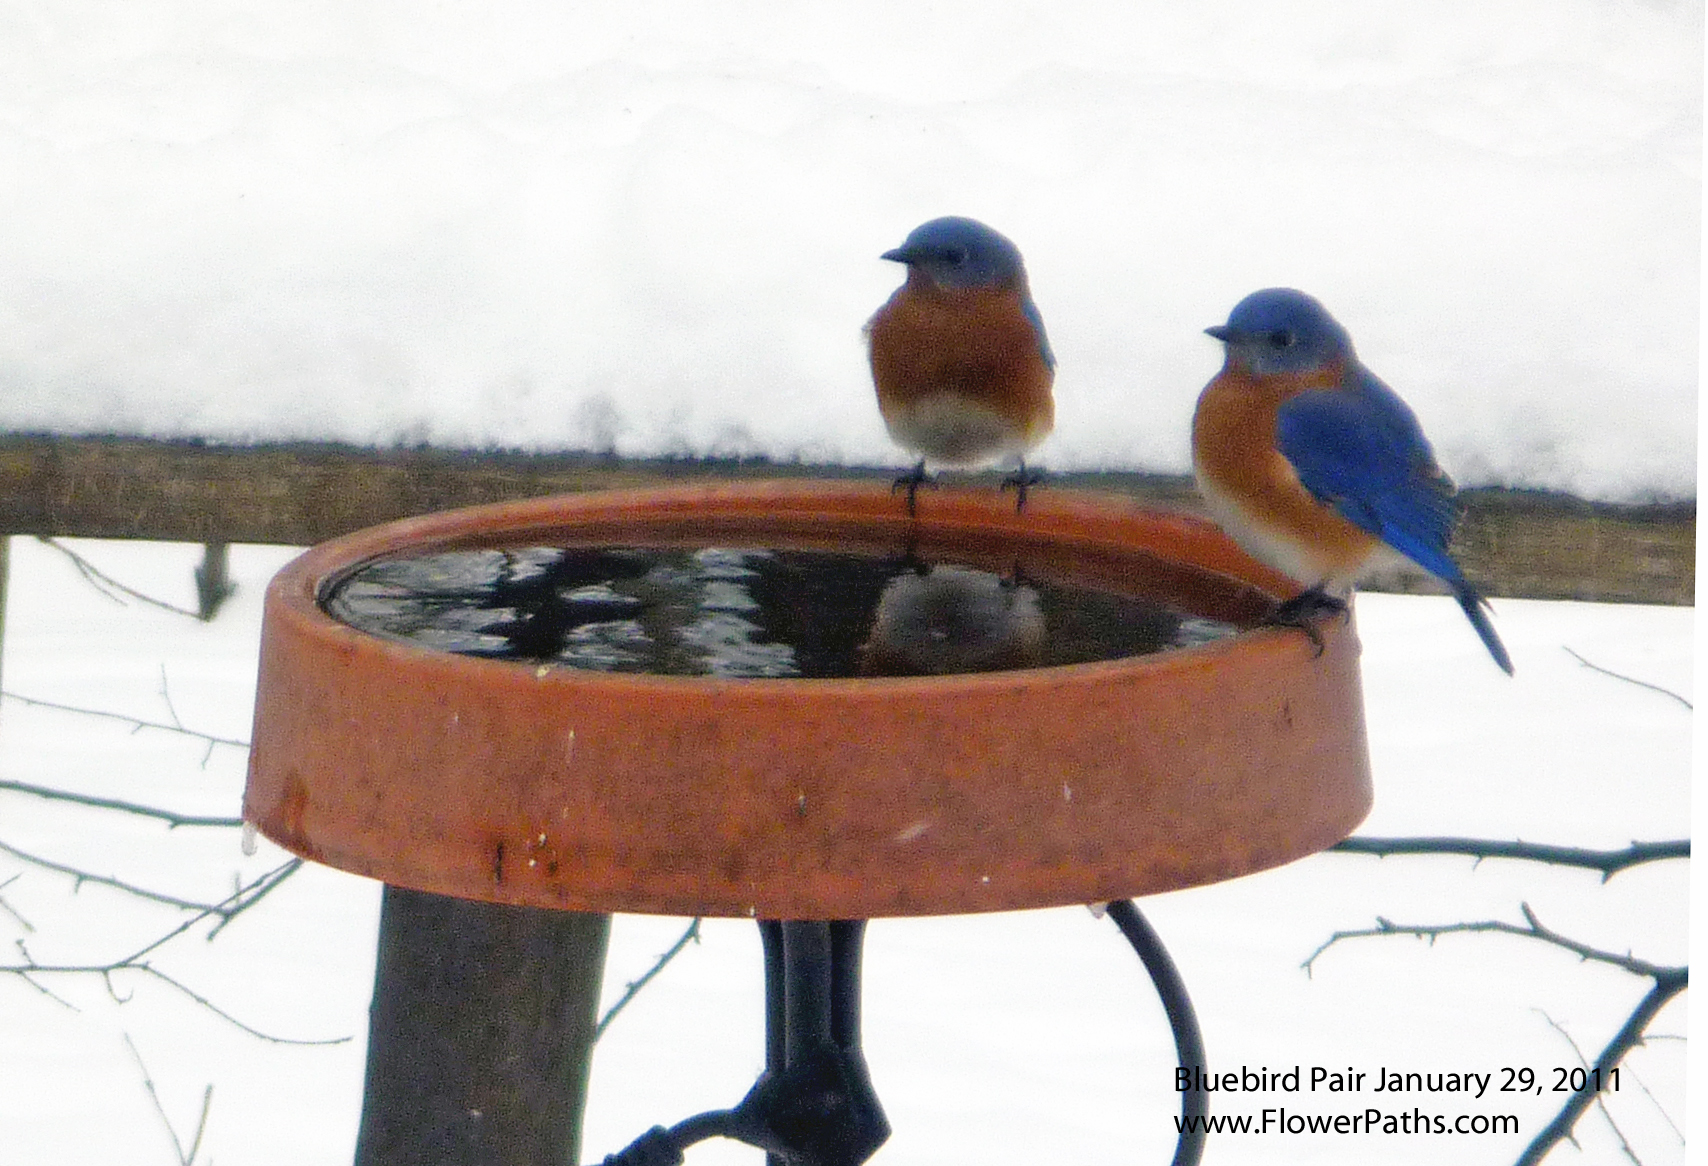
M 933 219 L 885 259 L 907 282 L 866 323 L 878 411 L 919 464 L 900 478 L 907 512 L 926 463 L 963 468 L 1015 458 L 1016 509 L 1040 480 L 1025 454 L 1056 425 L 1056 355 L 1032 302 L 1020 248 L 972 219 Z

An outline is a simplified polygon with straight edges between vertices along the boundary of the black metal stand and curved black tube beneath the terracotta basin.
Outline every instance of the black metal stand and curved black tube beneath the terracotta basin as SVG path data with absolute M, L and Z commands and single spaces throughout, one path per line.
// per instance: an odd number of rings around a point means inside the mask
M 1182 1067 L 1204 1065 L 1204 1041 L 1180 971 L 1131 900 L 1108 917 L 1144 963 L 1161 997 Z M 859 966 L 866 920 L 760 920 L 765 946 L 765 1072 L 733 1110 L 654 1125 L 605 1166 L 680 1166 L 683 1151 L 733 1137 L 765 1151 L 769 1166 L 861 1166 L 890 1137 L 859 1038 Z M 1173 1166 L 1204 1154 L 1209 1096 L 1180 1094 Z

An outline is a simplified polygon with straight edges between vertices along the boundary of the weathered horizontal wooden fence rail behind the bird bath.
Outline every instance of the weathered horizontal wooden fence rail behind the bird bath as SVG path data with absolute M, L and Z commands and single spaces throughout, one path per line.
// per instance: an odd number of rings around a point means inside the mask
M 410 514 L 543 493 L 893 473 L 770 461 L 0 435 L 0 534 L 306 546 Z M 1064 473 L 1050 481 L 1197 507 L 1184 476 Z M 1467 490 L 1464 498 L 1455 550 L 1465 574 L 1493 596 L 1694 603 L 1694 500 L 1614 505 L 1494 488 Z

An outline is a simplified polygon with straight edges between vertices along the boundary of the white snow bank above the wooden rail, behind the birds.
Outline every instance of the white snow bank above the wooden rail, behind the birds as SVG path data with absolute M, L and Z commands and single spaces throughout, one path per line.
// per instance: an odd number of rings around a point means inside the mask
M 859 328 L 1015 237 L 1057 468 L 1317 294 L 1464 483 L 1694 493 L 1701 5 L 0 10 L 0 425 L 898 463 Z

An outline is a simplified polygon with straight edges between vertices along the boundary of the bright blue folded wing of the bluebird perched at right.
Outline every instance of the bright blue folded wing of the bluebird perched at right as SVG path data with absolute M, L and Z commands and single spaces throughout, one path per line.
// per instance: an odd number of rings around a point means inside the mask
M 1360 365 L 1339 388 L 1312 389 L 1276 415 L 1276 449 L 1298 480 L 1346 521 L 1424 570 L 1460 580 L 1447 557 L 1459 519 L 1452 480 L 1404 401 Z

